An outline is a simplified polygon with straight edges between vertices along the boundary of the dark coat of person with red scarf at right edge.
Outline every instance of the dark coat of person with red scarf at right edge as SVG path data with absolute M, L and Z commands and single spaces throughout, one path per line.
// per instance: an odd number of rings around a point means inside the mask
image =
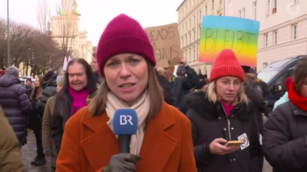
M 262 148 L 274 172 L 306 172 L 307 112 L 291 101 L 279 105 L 264 124 Z

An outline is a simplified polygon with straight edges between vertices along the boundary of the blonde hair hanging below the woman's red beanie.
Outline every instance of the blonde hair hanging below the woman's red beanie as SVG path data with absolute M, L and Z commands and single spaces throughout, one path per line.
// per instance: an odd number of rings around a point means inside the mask
M 221 99 L 221 97 L 217 94 L 216 91 L 216 80 L 209 84 L 207 88 L 207 94 L 206 97 L 208 97 L 209 101 L 212 103 L 216 103 L 218 100 Z M 240 90 L 238 92 L 237 98 L 233 105 L 237 105 L 239 103 L 246 103 L 247 104 L 247 96 L 245 95 L 245 90 L 243 83 L 240 85 Z

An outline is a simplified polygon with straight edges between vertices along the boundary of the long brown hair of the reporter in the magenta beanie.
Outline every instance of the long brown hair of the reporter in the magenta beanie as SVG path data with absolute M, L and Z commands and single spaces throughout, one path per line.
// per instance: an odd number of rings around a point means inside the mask
M 164 96 L 162 88 L 158 82 L 154 66 L 147 60 L 146 63 L 148 66 L 147 88 L 150 96 L 150 109 L 147 116 L 148 122 L 150 119 L 155 118 L 160 113 L 164 102 Z M 90 111 L 91 116 L 100 116 L 104 113 L 109 91 L 110 88 L 106 80 L 103 80 L 101 87 L 97 90 L 95 97 L 90 100 L 88 105 L 88 110 Z

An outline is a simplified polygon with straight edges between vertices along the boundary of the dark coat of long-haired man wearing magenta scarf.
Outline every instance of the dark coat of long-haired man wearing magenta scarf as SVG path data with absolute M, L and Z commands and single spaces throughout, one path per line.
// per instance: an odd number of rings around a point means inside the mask
M 96 90 L 93 90 L 91 92 L 89 99 L 93 97 L 95 91 Z M 57 154 L 61 148 L 64 126 L 71 117 L 72 103 L 72 96 L 69 94 L 68 87 L 66 86 L 57 94 L 52 114 L 51 134 L 56 146 Z

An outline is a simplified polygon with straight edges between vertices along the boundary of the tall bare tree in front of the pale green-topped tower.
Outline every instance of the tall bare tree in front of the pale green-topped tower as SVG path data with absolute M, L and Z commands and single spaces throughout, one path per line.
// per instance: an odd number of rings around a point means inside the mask
M 56 17 L 60 46 L 64 56 L 72 54 L 74 39 L 78 33 L 79 17 L 76 13 L 75 6 L 75 0 L 61 0 L 61 5 L 58 10 L 59 15 Z

